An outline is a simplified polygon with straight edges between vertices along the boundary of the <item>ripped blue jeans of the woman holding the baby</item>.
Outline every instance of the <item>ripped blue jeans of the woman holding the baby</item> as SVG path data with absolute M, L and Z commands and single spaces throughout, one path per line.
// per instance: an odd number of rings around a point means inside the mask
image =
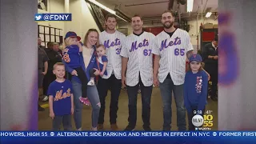
M 72 80 L 72 86 L 74 90 L 74 123 L 76 129 L 82 128 L 82 106 L 79 97 L 82 96 L 82 84 Z M 98 125 L 98 114 L 101 108 L 101 103 L 99 102 L 98 90 L 96 86 L 87 86 L 87 98 L 90 100 L 92 106 L 91 122 L 92 126 L 96 127 Z

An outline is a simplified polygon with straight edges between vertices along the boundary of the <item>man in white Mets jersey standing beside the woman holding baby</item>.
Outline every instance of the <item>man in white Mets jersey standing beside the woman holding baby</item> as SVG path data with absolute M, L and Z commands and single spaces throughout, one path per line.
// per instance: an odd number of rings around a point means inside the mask
M 122 87 L 121 82 L 121 67 L 122 57 L 120 52 L 125 34 L 115 30 L 117 20 L 114 14 L 106 15 L 106 30 L 99 34 L 100 44 L 106 47 L 106 56 L 108 63 L 106 66 L 107 75 L 103 75 L 98 79 L 98 94 L 101 102 L 101 110 L 98 118 L 98 129 L 103 129 L 104 114 L 105 114 L 105 99 L 107 91 L 110 90 L 110 126 L 111 130 L 118 130 L 117 113 L 118 113 L 118 98 Z

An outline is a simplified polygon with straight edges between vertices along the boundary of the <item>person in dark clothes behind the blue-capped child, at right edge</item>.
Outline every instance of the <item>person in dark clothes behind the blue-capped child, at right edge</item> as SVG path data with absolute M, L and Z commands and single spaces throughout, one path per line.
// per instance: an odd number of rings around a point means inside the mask
M 205 69 L 210 74 L 212 82 L 210 98 L 217 101 L 217 85 L 218 85 L 218 38 L 214 38 L 213 42 L 206 44 L 202 50 L 203 62 Z

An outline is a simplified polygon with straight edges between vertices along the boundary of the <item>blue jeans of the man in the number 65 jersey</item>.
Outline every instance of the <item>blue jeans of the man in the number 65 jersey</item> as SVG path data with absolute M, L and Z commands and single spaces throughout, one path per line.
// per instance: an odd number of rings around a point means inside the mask
M 174 99 L 177 108 L 178 130 L 186 130 L 186 109 L 184 106 L 183 85 L 175 86 L 170 75 L 167 76 L 164 82 L 160 83 L 163 103 L 163 130 L 170 130 L 171 128 L 172 91 L 174 91 Z

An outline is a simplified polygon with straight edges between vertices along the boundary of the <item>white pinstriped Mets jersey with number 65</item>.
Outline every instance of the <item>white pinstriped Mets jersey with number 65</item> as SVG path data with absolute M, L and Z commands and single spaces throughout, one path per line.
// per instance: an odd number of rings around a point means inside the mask
M 190 50 L 194 48 L 190 42 L 190 35 L 185 30 L 175 30 L 171 38 L 164 30 L 156 36 L 152 53 L 160 56 L 159 82 L 163 82 L 170 73 L 174 85 L 184 83 L 186 52 Z

